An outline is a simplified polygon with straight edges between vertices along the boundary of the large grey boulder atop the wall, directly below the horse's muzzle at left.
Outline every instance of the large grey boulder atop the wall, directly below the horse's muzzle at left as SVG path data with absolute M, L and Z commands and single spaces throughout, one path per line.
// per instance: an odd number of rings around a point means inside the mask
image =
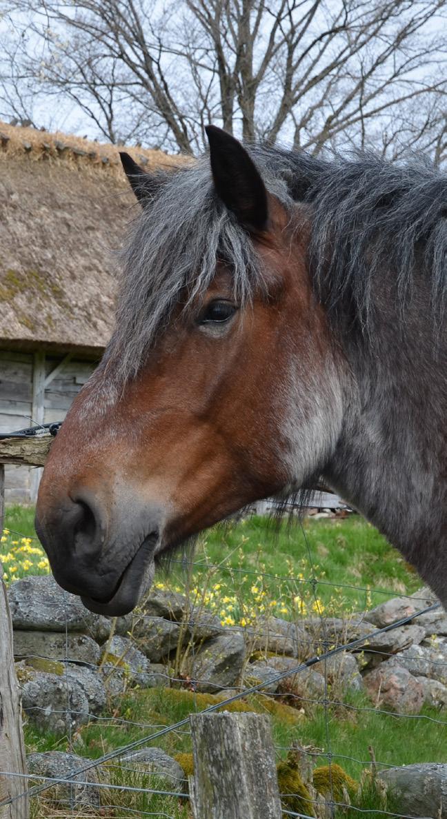
M 8 600 L 14 629 L 84 631 L 99 641 L 110 634 L 110 620 L 85 609 L 80 597 L 64 591 L 51 574 L 11 583 Z

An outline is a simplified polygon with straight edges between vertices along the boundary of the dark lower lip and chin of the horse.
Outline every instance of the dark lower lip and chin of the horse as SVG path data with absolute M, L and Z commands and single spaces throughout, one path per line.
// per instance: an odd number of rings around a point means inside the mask
M 157 533 L 144 538 L 109 595 L 104 595 L 101 600 L 81 595 L 80 599 L 85 608 L 106 617 L 122 617 L 135 609 L 153 581 L 154 550 L 157 540 Z

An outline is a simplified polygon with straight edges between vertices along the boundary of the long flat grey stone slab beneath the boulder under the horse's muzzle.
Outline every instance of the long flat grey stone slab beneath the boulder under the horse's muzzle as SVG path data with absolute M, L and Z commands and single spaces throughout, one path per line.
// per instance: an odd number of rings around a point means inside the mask
M 84 634 L 61 631 L 14 631 L 14 656 L 42 657 L 98 665 L 101 649 Z

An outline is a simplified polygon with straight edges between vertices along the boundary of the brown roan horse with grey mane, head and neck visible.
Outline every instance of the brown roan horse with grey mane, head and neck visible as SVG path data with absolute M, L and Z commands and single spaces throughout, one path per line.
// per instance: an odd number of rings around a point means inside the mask
M 445 176 L 207 134 L 175 170 L 121 155 L 116 328 L 39 488 L 54 577 L 128 613 L 189 538 L 322 478 L 447 604 Z

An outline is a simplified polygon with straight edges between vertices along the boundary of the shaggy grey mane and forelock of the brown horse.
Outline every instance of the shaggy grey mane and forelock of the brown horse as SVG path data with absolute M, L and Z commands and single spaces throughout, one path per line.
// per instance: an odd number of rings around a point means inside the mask
M 416 261 L 431 276 L 434 303 L 445 296 L 447 178 L 415 161 L 377 156 L 331 161 L 281 148 L 249 147 L 267 190 L 293 213 L 312 209 L 309 269 L 317 297 L 336 324 L 371 333 L 372 283 L 394 277 L 399 304 Z M 179 305 L 188 310 L 206 291 L 217 259 L 233 274 L 235 297 L 262 287 L 262 265 L 249 238 L 216 197 L 208 156 L 162 174 L 152 201 L 130 228 L 121 252 L 123 279 L 107 360 L 122 378 L 134 375 Z

